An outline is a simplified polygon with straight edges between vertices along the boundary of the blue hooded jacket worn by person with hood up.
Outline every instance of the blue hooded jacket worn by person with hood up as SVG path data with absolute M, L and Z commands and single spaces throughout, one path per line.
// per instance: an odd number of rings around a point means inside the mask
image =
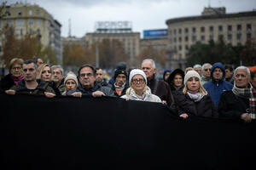
M 213 77 L 212 77 L 212 73 L 214 71 L 214 69 L 218 67 L 221 69 L 221 71 L 223 72 L 223 77 L 221 80 L 219 80 L 218 82 L 216 82 Z M 212 81 L 210 82 L 206 82 L 203 87 L 206 88 L 207 93 L 210 94 L 212 101 L 218 105 L 218 101 L 220 99 L 220 95 L 227 90 L 231 90 L 233 88 L 233 84 L 231 84 L 230 82 L 226 82 L 224 81 L 224 77 L 225 77 L 225 70 L 224 70 L 224 65 L 222 65 L 221 63 L 214 63 L 214 65 L 212 65 L 212 69 L 211 69 L 211 78 Z

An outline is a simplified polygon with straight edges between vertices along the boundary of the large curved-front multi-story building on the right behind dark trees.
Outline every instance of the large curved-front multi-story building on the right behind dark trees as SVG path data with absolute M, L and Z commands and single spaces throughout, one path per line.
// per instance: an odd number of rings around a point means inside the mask
M 166 20 L 168 67 L 185 69 L 187 51 L 197 41 L 217 41 L 219 36 L 232 45 L 256 37 L 256 11 L 225 14 L 225 8 L 205 8 L 199 16 Z

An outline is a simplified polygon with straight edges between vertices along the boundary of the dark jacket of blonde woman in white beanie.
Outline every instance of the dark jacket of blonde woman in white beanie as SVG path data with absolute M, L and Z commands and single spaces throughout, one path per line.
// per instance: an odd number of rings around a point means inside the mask
M 187 113 L 189 116 L 218 117 L 217 107 L 209 94 L 205 95 L 199 102 L 195 102 L 189 98 L 188 94 L 176 92 L 174 99 L 178 115 Z

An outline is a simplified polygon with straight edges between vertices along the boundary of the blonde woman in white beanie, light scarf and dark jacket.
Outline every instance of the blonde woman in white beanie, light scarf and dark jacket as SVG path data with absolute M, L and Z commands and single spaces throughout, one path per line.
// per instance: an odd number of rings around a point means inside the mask
M 174 95 L 177 114 L 184 119 L 189 116 L 218 117 L 217 107 L 202 87 L 200 78 L 197 71 L 188 71 L 183 92 Z

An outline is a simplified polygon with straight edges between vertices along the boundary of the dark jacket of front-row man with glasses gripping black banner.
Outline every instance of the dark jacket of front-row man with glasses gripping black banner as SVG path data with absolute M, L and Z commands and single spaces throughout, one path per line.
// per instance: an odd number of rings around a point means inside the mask
M 99 83 L 96 83 L 96 82 L 94 83 L 94 87 L 93 88 L 83 88 L 81 83 L 79 83 L 78 88 L 68 91 L 67 95 L 70 96 L 70 95 L 72 95 L 75 92 L 81 92 L 82 95 L 91 95 L 92 93 L 94 93 L 96 91 L 101 91 L 106 96 L 114 97 L 113 90 L 111 88 L 108 88 L 106 86 L 102 87 Z

